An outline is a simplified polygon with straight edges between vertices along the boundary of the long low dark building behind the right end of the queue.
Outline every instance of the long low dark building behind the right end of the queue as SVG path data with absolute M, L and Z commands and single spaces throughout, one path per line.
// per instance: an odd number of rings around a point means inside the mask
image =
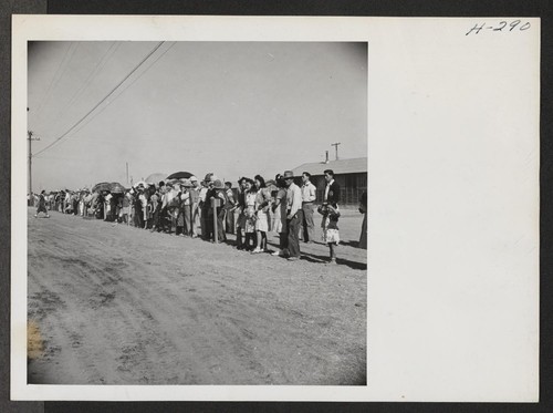
M 301 177 L 303 172 L 311 174 L 311 182 L 316 186 L 316 203 L 321 203 L 326 180 L 324 171 L 334 171 L 334 179 L 340 184 L 340 206 L 357 206 L 362 194 L 367 190 L 367 157 L 314 162 L 293 168 L 294 176 Z M 301 185 L 301 178 L 295 179 Z

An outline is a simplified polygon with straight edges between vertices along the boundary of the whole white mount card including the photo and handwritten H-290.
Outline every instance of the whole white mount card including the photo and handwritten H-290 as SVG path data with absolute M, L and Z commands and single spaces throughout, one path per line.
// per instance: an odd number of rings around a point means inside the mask
M 10 397 L 539 400 L 540 19 L 12 27 Z

